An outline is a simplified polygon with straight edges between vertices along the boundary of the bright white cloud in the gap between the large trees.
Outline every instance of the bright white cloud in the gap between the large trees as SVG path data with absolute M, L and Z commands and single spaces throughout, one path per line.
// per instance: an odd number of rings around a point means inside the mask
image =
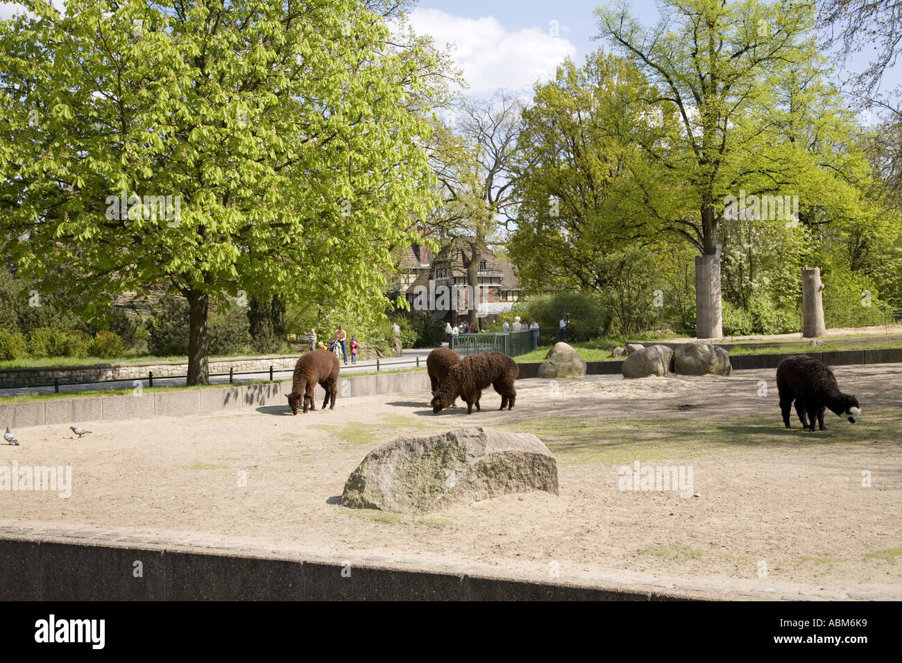
M 575 45 L 551 36 L 548 26 L 513 32 L 492 16 L 472 19 L 439 9 L 415 9 L 410 24 L 415 32 L 435 39 L 438 48 L 450 45 L 471 97 L 486 97 L 499 88 L 524 91 L 537 79 L 554 77 L 557 65 L 576 55 Z M 560 26 L 559 32 L 568 28 Z

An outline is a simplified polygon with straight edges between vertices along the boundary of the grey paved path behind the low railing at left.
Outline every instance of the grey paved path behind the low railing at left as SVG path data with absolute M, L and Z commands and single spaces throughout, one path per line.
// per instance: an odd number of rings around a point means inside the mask
M 393 370 L 401 368 L 415 368 L 417 359 L 419 365 L 426 367 L 426 356 L 432 351 L 432 348 L 411 348 L 404 350 L 402 357 L 386 357 L 379 360 L 379 370 Z M 341 360 L 341 356 L 338 357 Z M 376 360 L 361 360 L 356 364 L 351 364 L 350 355 L 348 355 L 348 363 L 342 364 L 341 373 L 368 373 L 376 370 Z M 272 372 L 273 380 L 290 380 L 291 374 L 294 373 L 293 368 L 286 368 Z M 234 382 L 253 382 L 259 380 L 267 380 L 267 373 L 242 374 L 235 375 Z M 103 382 L 98 384 L 60 384 L 60 393 L 68 391 L 97 391 L 100 389 L 132 389 L 135 384 L 134 380 L 116 380 L 111 382 Z M 211 384 L 226 384 L 228 375 L 214 375 L 210 377 Z M 147 379 L 141 381 L 143 387 L 148 386 Z M 153 378 L 154 387 L 183 387 L 185 386 L 185 378 Z M 25 396 L 32 393 L 53 393 L 53 387 L 14 387 L 9 389 L 0 389 L 0 398 L 3 396 Z

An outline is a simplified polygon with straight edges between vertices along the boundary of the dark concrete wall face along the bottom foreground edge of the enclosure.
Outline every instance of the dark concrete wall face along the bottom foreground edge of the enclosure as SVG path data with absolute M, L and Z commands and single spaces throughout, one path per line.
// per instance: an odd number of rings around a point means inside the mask
M 135 562 L 141 574 L 135 576 Z M 106 542 L 0 539 L 0 601 L 661 601 L 691 595 Z

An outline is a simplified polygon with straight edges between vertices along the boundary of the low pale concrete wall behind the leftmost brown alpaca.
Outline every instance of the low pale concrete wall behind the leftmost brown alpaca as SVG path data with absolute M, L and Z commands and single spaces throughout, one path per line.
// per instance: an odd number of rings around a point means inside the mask
M 429 378 L 426 371 L 349 375 L 338 379 L 337 400 L 428 389 Z M 124 396 L 72 396 L 17 403 L 0 401 L 0 424 L 15 429 L 85 421 L 181 417 L 218 410 L 276 405 L 287 407 L 285 394 L 289 391 L 291 382 L 269 382 L 179 391 L 139 391 Z M 314 391 L 314 396 L 318 401 L 317 407 L 326 398 L 319 386 Z

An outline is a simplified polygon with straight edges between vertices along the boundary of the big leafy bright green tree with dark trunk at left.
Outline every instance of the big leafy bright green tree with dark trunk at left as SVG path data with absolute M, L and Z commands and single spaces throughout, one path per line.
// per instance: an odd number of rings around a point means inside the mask
M 239 290 L 379 315 L 386 246 L 430 207 L 407 102 L 432 61 L 391 44 L 396 5 L 23 4 L 0 23 L 0 227 L 26 278 L 86 315 L 182 295 L 190 384 Z

